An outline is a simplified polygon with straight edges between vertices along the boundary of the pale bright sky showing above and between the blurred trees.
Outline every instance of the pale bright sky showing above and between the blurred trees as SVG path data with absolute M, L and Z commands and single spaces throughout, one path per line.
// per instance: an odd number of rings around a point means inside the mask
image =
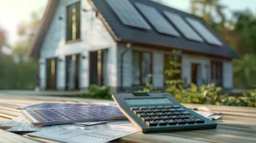
M 190 0 L 164 0 L 170 7 L 189 12 Z M 18 24 L 22 21 L 29 21 L 30 13 L 39 11 L 46 7 L 48 0 L 0 0 L 0 27 L 6 29 L 9 44 L 14 45 L 18 39 Z M 221 0 L 227 5 L 225 11 L 228 18 L 231 18 L 230 10 L 244 10 L 249 8 L 256 14 L 256 0 Z

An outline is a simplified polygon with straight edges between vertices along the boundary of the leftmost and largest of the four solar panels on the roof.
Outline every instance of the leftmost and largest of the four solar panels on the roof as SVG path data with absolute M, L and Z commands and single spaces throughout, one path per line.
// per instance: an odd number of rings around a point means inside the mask
M 107 0 L 107 2 L 124 25 L 146 30 L 151 29 L 146 20 L 128 0 Z

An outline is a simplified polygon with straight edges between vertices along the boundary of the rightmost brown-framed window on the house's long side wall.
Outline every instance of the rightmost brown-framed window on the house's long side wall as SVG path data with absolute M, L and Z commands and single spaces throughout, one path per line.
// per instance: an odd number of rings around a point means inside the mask
M 222 62 L 211 61 L 211 82 L 222 85 Z

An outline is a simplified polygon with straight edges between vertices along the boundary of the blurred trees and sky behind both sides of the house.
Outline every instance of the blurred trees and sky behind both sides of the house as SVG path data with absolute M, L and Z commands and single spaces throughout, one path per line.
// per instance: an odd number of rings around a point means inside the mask
M 202 17 L 232 47 L 235 89 L 256 85 L 255 0 L 154 0 Z M 0 89 L 34 90 L 39 62 L 27 55 L 48 0 L 0 0 Z

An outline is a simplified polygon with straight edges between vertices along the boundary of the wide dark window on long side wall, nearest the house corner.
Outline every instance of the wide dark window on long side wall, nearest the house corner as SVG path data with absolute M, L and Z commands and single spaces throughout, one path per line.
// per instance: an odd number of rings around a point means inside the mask
M 152 54 L 138 51 L 132 52 L 132 85 L 146 85 L 151 82 Z

